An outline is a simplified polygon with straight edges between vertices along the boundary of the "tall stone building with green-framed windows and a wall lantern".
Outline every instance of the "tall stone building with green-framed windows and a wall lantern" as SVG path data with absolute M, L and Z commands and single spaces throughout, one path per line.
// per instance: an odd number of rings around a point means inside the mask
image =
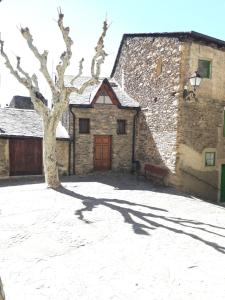
M 166 183 L 215 201 L 225 201 L 224 50 L 224 41 L 197 32 L 125 34 L 111 74 L 141 106 L 142 172 L 161 170 Z

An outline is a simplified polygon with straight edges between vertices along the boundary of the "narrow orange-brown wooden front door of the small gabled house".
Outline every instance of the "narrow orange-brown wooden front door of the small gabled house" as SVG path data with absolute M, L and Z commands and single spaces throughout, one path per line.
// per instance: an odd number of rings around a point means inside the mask
M 94 136 L 94 169 L 110 170 L 111 169 L 111 136 L 95 135 Z

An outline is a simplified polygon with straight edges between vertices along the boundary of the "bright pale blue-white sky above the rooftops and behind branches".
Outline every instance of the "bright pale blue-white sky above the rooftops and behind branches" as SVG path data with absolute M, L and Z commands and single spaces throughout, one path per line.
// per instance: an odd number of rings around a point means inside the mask
M 102 70 L 104 76 L 111 72 L 124 33 L 194 30 L 225 40 L 225 1 L 222 0 L 2 0 L 0 32 L 5 40 L 5 49 L 12 60 L 20 55 L 24 68 L 29 72 L 36 71 L 38 64 L 27 50 L 18 27 L 28 26 L 37 46 L 41 50 L 49 50 L 49 68 L 53 70 L 63 51 L 56 24 L 58 6 L 63 9 L 65 24 L 70 26 L 74 41 L 69 74 L 76 73 L 78 61 L 84 56 L 84 73 L 88 75 L 93 48 L 106 15 L 111 26 L 105 40 L 109 56 Z M 10 101 L 15 94 L 27 94 L 8 74 L 1 58 L 0 74 L 0 103 Z M 44 85 L 43 89 L 45 93 Z

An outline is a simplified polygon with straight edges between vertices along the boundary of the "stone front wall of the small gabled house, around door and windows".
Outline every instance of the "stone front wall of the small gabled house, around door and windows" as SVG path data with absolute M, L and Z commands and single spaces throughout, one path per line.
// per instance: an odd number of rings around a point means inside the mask
M 94 135 L 112 136 L 112 170 L 130 171 L 132 167 L 132 134 L 134 110 L 116 105 L 95 104 L 93 108 L 73 108 L 75 121 L 75 172 L 93 171 Z M 90 119 L 90 134 L 79 133 L 79 118 Z M 71 129 L 72 129 L 72 118 Z M 117 134 L 117 119 L 126 120 L 126 134 Z M 71 132 L 72 134 L 72 132 Z

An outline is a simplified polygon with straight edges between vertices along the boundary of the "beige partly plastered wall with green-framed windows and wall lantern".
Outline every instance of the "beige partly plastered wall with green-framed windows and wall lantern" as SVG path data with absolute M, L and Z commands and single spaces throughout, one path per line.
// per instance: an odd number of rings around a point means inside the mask
M 210 199 L 220 198 L 220 170 L 225 163 L 223 136 L 225 106 L 225 51 L 215 44 L 187 41 L 183 44 L 181 81 L 198 69 L 198 60 L 211 61 L 210 78 L 203 78 L 197 101 L 180 98 L 177 175 L 187 192 Z M 189 87 L 190 88 L 190 87 Z M 216 165 L 205 166 L 205 152 L 216 153 Z

